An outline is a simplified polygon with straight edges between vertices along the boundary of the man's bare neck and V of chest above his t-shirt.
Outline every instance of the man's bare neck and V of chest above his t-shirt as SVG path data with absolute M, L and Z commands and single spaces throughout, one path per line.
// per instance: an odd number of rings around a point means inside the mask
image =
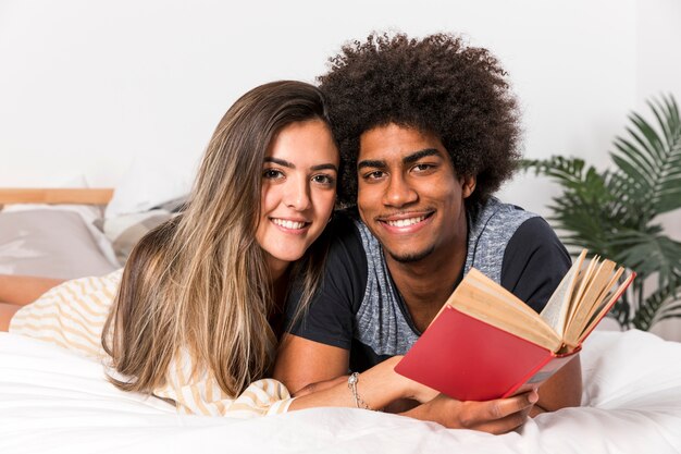
M 399 262 L 385 255 L 391 277 L 417 329 L 423 332 L 447 300 L 466 263 L 467 235 L 418 262 Z

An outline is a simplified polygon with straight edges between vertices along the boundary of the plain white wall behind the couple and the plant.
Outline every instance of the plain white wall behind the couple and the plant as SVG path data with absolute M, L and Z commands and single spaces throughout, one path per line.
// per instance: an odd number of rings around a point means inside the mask
M 510 73 L 527 157 L 604 165 L 630 110 L 681 100 L 680 20 L 678 0 L 0 0 L 0 187 L 115 186 L 133 164 L 188 185 L 236 97 L 312 82 L 372 29 L 467 34 Z M 547 214 L 555 194 L 519 175 L 502 197 Z

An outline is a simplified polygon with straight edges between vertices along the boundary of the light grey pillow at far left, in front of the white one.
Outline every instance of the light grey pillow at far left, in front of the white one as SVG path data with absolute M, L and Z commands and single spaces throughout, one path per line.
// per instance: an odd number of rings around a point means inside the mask
M 0 273 L 75 279 L 116 268 L 74 211 L 0 212 Z

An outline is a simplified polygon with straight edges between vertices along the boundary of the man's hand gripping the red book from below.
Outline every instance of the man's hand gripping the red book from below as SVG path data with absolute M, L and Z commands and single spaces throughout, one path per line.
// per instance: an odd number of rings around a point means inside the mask
M 461 402 L 439 394 L 403 415 L 438 422 L 450 429 L 499 434 L 522 426 L 538 398 L 536 391 L 487 402 Z

